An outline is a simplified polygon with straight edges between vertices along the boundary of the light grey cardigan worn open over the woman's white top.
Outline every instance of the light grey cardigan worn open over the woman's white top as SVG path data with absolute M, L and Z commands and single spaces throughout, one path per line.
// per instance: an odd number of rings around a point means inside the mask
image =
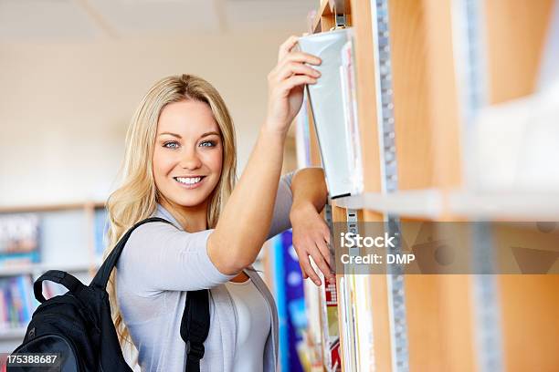
M 293 173 L 280 179 L 269 237 L 290 228 Z M 186 292 L 210 289 L 210 329 L 201 372 L 231 372 L 237 315 L 225 283 L 236 275 L 221 274 L 207 255 L 212 230 L 186 233 L 170 212 L 158 205 L 153 216 L 172 222 L 146 223 L 126 243 L 117 264 L 117 299 L 125 325 L 139 351 L 142 371 L 185 370 L 185 342 L 180 325 Z M 242 216 L 241 216 L 242 218 Z M 234 233 L 234 232 L 231 232 Z M 265 372 L 275 372 L 278 360 L 278 316 L 272 295 L 258 275 L 246 271 L 264 296 L 272 326 L 264 347 Z

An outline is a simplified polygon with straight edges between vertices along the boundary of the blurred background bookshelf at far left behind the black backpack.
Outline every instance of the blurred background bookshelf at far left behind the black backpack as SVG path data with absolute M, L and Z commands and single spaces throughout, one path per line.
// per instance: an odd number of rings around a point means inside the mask
M 89 284 L 101 262 L 107 233 L 102 202 L 0 207 L 0 352 L 25 336 L 37 308 L 33 283 L 48 270 L 62 270 Z M 47 298 L 63 294 L 43 284 Z

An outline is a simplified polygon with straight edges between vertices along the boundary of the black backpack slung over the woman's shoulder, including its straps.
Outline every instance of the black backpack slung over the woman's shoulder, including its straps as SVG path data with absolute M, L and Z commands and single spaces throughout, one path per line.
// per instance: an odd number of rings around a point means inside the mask
M 132 231 L 145 222 L 167 222 L 152 217 L 136 223 L 116 244 L 100 266 L 90 285 L 82 284 L 71 274 L 49 270 L 33 286 L 35 297 L 41 303 L 27 326 L 26 336 L 12 356 L 29 353 L 58 354 L 53 369 L 24 367 L 23 358 L 8 364 L 8 372 L 132 372 L 122 356 L 121 346 L 111 319 L 111 305 L 106 287 L 111 271 L 121 255 Z M 48 300 L 43 296 L 42 284 L 51 281 L 64 285 L 69 292 Z M 204 356 L 204 341 L 209 330 L 208 290 L 190 291 L 186 295 L 185 312 L 181 323 L 181 336 L 185 340 L 187 372 L 199 372 Z M 37 361 L 28 359 L 27 361 Z M 50 359 L 52 362 L 52 359 Z M 19 364 L 18 364 L 19 363 Z M 56 367 L 58 366 L 58 367 Z

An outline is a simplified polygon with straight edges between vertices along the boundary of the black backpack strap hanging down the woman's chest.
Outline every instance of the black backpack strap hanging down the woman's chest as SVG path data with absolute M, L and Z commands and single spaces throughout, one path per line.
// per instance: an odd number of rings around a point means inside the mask
M 209 291 L 201 289 L 188 292 L 181 321 L 181 337 L 186 343 L 186 372 L 200 372 L 209 322 Z

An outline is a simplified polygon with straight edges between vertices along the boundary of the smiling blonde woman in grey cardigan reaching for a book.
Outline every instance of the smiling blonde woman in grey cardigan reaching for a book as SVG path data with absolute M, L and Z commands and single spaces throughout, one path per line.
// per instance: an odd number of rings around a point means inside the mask
M 278 320 L 268 288 L 251 270 L 262 244 L 293 227 L 304 277 L 325 277 L 329 231 L 320 169 L 280 179 L 302 88 L 320 74 L 317 57 L 281 47 L 269 74 L 268 115 L 236 181 L 235 132 L 222 98 L 202 78 L 164 78 L 142 99 L 127 133 L 123 183 L 108 201 L 112 247 L 135 222 L 109 288 L 121 344 L 132 341 L 143 371 L 185 370 L 180 324 L 185 291 L 210 289 L 202 371 L 275 371 Z M 109 251 L 109 250 L 108 250 Z M 130 344 L 129 344 L 130 345 Z

